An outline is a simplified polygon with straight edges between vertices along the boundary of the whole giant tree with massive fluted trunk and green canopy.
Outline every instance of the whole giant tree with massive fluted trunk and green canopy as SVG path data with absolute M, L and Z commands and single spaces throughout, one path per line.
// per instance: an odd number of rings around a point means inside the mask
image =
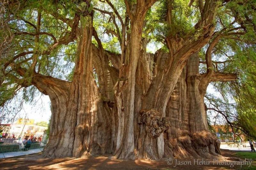
M 49 96 L 44 156 L 220 156 L 204 96 L 209 83 L 238 77 L 236 70 L 218 69 L 225 67 L 216 64 L 225 58 L 221 43 L 254 46 L 252 1 L 14 0 L 4 5 L 4 27 L 10 31 L 1 32 L 6 43 L 0 49 L 0 106 L 6 110 L 20 89 Z M 162 47 L 153 47 L 157 51 L 151 54 L 148 43 Z M 199 63 L 205 65 L 201 72 Z

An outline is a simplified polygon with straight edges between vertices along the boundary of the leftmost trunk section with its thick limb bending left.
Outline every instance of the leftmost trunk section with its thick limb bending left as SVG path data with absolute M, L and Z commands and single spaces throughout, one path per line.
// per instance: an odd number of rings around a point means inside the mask
M 68 119 L 68 97 L 71 83 L 61 81 L 52 77 L 36 75 L 32 80 L 39 91 L 48 95 L 51 100 L 51 126 L 49 142 L 44 148 L 44 155 L 47 157 L 64 157 L 72 155 L 73 139 L 67 137 L 72 132 L 66 126 Z

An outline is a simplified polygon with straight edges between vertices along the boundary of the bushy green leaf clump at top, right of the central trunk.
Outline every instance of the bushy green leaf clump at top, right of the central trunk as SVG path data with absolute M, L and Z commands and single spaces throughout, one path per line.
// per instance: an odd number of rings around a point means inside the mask
M 188 0 L 172 1 L 171 23 L 166 22 L 167 1 L 160 1 L 154 6 L 152 14 L 148 16 L 148 22 L 155 29 L 156 40 L 161 41 L 167 36 L 183 37 L 194 30 L 193 23 L 197 20 L 196 11 L 189 8 L 188 3 Z

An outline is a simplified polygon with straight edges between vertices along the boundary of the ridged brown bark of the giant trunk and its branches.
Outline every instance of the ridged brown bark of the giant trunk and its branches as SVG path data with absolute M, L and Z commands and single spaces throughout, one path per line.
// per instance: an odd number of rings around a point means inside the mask
M 147 12 L 151 11 L 156 1 L 124 0 L 126 11 L 122 15 L 110 0 L 100 1 L 105 4 L 99 6 L 94 6 L 91 0 L 76 1 L 74 5 L 56 1 L 56 11 L 45 11 L 39 7 L 35 22 L 21 18 L 24 24 L 35 30 L 20 32 L 15 28 L 14 35 L 25 35 L 24 40 L 32 36 L 34 40 L 29 38 L 28 42 L 34 42 L 28 43 L 28 50 L 23 51 L 22 47 L 20 54 L 4 61 L 2 70 L 8 70 L 6 75 L 15 79 L 18 86 L 34 85 L 50 97 L 52 117 L 44 156 L 87 157 L 109 153 L 116 158 L 154 160 L 164 157 L 220 157 L 220 143 L 208 130 L 204 96 L 210 82 L 233 81 L 237 76 L 219 72 L 211 57 L 220 39 L 235 36 L 240 40 L 236 35 L 243 35 L 240 29 L 245 27 L 228 28 L 219 19 L 225 28 L 215 29 L 214 22 L 219 22 L 215 12 L 220 3 L 217 0 L 199 0 L 200 17 L 196 17 L 197 23 L 189 29 L 188 24 L 185 29 L 180 27 L 178 30 L 176 22 L 179 19 L 176 17 L 179 12 L 173 11 L 177 3 L 166 0 L 160 2 L 160 5 L 164 5 L 162 12 L 166 14 L 164 29 L 160 33 L 162 29 L 154 26 L 155 21 L 147 24 Z M 193 4 L 193 10 L 196 10 L 192 1 L 189 7 Z M 118 3 L 117 6 L 121 5 Z M 66 8 L 71 7 L 69 15 Z M 104 20 L 109 17 L 108 22 L 113 22 L 113 25 L 106 24 L 104 34 L 116 36 L 120 54 L 103 48 L 105 44 L 97 35 L 98 28 L 93 27 L 94 10 L 103 14 Z M 41 27 L 45 12 L 51 15 L 54 27 L 59 21 L 61 27 L 67 26 L 65 29 L 63 27 L 65 31 L 57 34 L 55 31 L 54 34 L 43 32 L 44 29 L 54 28 L 45 28 L 45 23 Z M 234 26 L 235 22 L 231 25 Z M 98 22 L 95 24 L 99 25 Z M 99 27 L 101 32 L 105 24 Z M 154 35 L 156 29 L 164 47 L 155 54 L 149 54 L 147 44 L 152 37 L 150 34 Z M 44 47 L 41 42 L 47 46 Z M 70 42 L 77 45 L 72 81 L 40 74 L 44 73 L 42 70 L 40 72 L 41 62 L 45 60 L 42 58 L 52 57 L 52 53 L 62 50 L 62 46 Z M 35 46 L 33 50 L 30 50 L 30 45 Z M 207 47 L 207 50 L 205 61 L 201 63 L 206 64 L 207 69 L 200 74 L 198 51 L 203 47 Z M 19 74 L 17 77 L 16 73 Z M 0 84 L 3 81 L 0 80 Z

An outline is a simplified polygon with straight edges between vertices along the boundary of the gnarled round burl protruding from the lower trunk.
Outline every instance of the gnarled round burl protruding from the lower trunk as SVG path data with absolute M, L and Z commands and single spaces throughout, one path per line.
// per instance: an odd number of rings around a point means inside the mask
M 170 127 L 169 118 L 163 117 L 156 109 L 140 111 L 139 123 L 146 125 L 146 131 L 151 137 L 160 136 Z

